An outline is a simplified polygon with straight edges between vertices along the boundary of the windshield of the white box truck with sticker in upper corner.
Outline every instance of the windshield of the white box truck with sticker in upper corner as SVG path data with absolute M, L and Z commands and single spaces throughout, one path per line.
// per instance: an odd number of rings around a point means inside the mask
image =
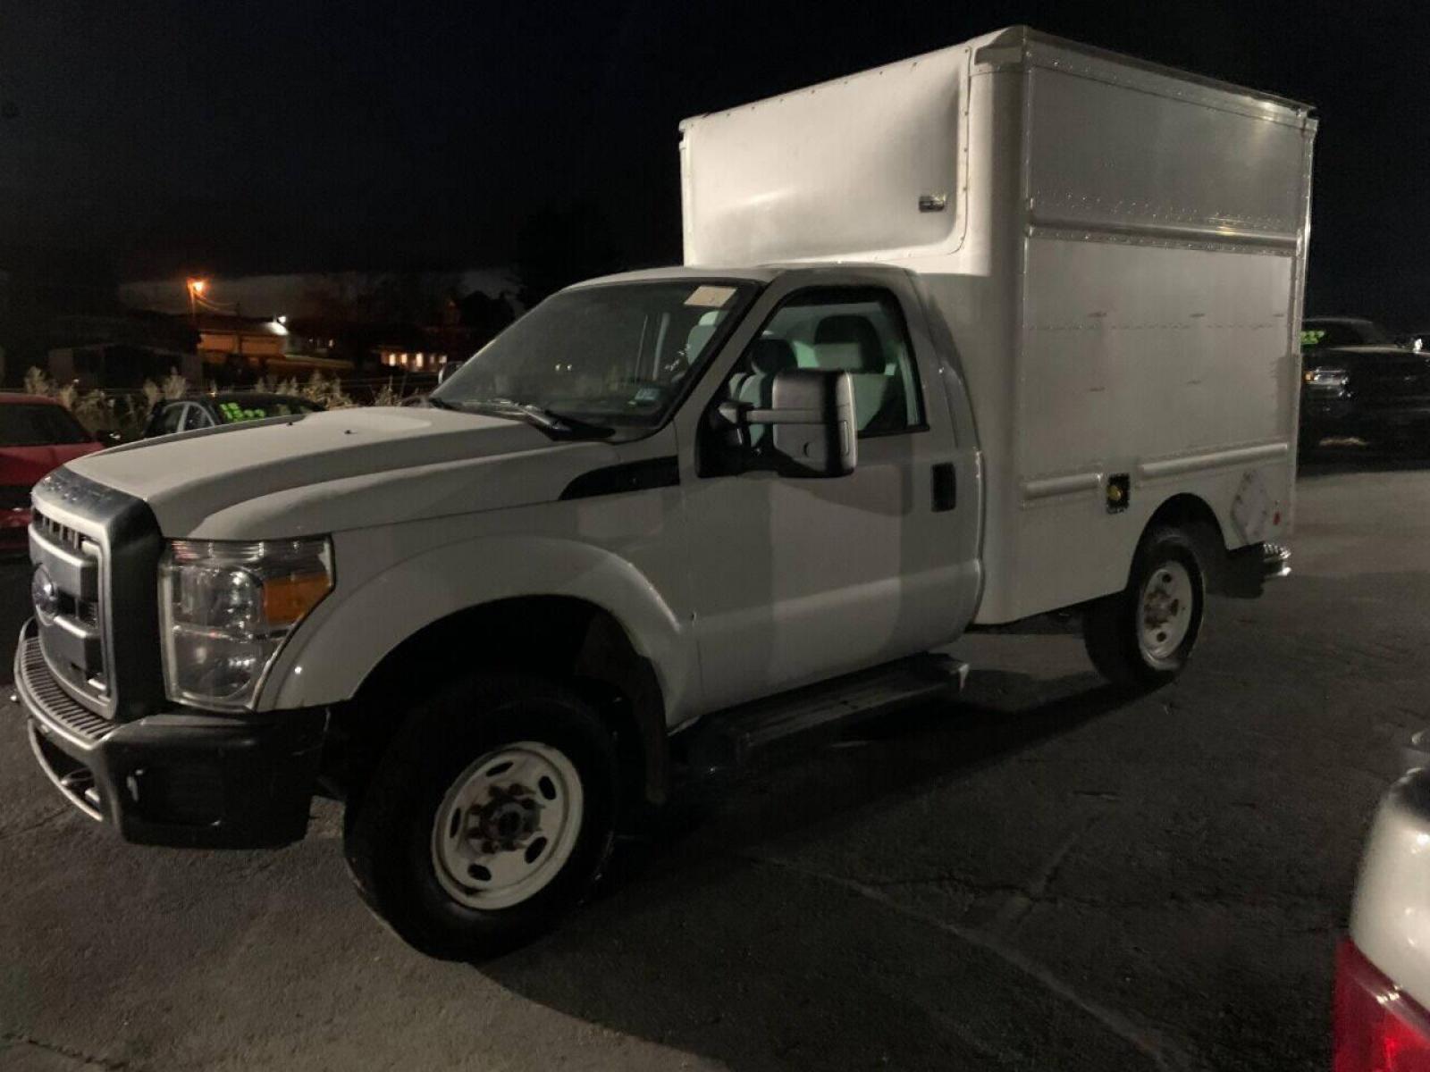
M 432 397 L 452 409 L 518 403 L 606 427 L 654 427 L 756 289 L 682 279 L 563 290 L 488 343 Z

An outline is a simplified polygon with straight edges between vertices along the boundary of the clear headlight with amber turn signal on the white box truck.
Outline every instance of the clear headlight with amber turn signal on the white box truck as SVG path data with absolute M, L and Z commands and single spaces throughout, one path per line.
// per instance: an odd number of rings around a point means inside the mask
M 252 708 L 283 642 L 332 587 L 333 547 L 326 537 L 170 542 L 159 560 L 169 699 Z

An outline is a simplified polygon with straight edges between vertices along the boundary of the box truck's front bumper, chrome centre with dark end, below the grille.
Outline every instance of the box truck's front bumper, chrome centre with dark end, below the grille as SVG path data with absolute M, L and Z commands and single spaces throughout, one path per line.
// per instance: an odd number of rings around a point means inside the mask
M 14 683 L 44 773 L 124 840 L 266 848 L 307 830 L 325 709 L 247 716 L 174 709 L 110 722 L 54 679 L 33 620 L 20 632 Z

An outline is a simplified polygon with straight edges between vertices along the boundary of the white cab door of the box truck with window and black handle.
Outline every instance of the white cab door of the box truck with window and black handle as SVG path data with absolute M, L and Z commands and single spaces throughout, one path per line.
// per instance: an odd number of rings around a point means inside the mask
M 731 446 L 711 419 L 726 399 L 768 405 L 774 377 L 797 367 L 851 376 L 849 476 L 779 476 L 756 459 L 768 429 Z M 927 650 L 968 622 L 977 503 L 960 502 L 972 482 L 958 485 L 972 455 L 960 456 L 938 377 L 897 270 L 786 273 L 732 336 L 678 426 L 704 709 Z M 746 450 L 752 467 L 712 466 L 722 450 Z

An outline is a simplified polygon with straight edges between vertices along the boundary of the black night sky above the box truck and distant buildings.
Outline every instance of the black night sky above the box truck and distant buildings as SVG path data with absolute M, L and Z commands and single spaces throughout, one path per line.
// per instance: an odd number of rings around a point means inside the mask
M 1420 13 L 1417 13 L 1420 9 Z M 1012 23 L 1317 107 L 1308 309 L 1430 326 L 1420 4 L 0 0 L 0 247 L 122 277 L 679 260 L 676 123 Z

